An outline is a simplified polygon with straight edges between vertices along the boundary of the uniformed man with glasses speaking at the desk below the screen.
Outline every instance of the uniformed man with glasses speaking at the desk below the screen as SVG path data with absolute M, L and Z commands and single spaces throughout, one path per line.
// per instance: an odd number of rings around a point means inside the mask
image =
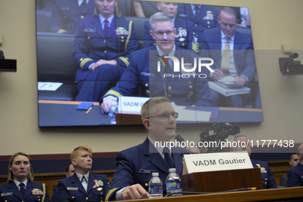
M 161 147 L 175 137 L 177 117 L 178 113 L 166 97 L 153 97 L 142 105 L 141 119 L 148 137 L 143 144 L 116 155 L 117 170 L 106 201 L 148 198 L 148 183 L 153 172 L 159 173 L 166 195 L 165 180 L 169 169 L 176 168 L 176 173 L 181 175 L 183 156 L 188 154 L 184 148 Z M 160 142 L 161 146 L 156 142 Z

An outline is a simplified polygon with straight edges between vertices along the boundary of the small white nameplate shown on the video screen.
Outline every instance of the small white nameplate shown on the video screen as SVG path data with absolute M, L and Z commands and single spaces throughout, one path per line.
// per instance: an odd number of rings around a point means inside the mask
M 130 112 L 140 114 L 142 105 L 149 99 L 149 97 L 129 97 L 120 96 L 118 111 Z

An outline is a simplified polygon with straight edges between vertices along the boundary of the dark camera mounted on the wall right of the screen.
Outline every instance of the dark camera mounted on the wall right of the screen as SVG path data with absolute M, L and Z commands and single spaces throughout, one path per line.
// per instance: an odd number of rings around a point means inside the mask
M 299 56 L 298 53 L 291 53 L 289 57 L 280 57 L 279 66 L 283 75 L 303 74 L 303 65 L 298 60 L 294 60 Z

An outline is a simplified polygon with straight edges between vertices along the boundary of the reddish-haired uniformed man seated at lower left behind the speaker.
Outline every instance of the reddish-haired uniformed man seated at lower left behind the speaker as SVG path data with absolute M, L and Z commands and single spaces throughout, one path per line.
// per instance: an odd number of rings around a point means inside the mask
M 106 175 L 94 174 L 92 168 L 92 150 L 87 146 L 75 148 L 71 153 L 71 161 L 75 173 L 58 181 L 57 201 L 103 201 L 109 189 Z

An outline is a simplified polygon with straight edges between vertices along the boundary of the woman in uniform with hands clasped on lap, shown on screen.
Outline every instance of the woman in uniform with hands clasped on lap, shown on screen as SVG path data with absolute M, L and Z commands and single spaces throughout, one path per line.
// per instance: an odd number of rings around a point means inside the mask
M 132 21 L 121 16 L 118 0 L 95 0 L 94 16 L 80 20 L 72 57 L 78 65 L 76 101 L 99 102 L 129 65 L 138 48 Z

